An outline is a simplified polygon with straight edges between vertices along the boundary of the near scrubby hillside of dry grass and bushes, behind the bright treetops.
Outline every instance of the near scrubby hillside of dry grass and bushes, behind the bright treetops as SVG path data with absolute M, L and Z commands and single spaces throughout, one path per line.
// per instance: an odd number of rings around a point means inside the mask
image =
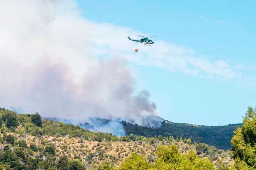
M 84 170 L 97 168 L 104 161 L 119 167 L 132 153 L 145 157 L 147 162 L 155 162 L 162 144 L 175 145 L 181 154 L 193 150 L 198 160 L 210 159 L 216 167 L 220 161 L 233 164 L 230 151 L 191 143 L 190 139 L 93 133 L 80 126 L 41 120 L 39 114 L 16 114 L 1 108 L 0 129 L 0 169 L 56 170 L 65 167 L 68 170 L 76 167 Z

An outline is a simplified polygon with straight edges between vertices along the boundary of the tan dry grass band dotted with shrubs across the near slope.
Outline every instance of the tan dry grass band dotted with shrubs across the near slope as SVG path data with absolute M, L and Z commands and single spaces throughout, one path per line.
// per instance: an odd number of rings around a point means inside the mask
M 159 144 L 175 144 L 181 153 L 187 153 L 189 150 L 195 150 L 195 145 L 186 144 L 184 142 L 169 142 L 163 141 L 155 144 L 148 142 L 96 142 L 87 141 L 82 138 L 52 137 L 52 136 L 20 136 L 16 133 L 17 139 L 25 139 L 28 146 L 35 144 L 37 147 L 44 147 L 48 144 L 55 145 L 55 154 L 57 156 L 67 155 L 70 159 L 79 158 L 85 164 L 100 164 L 103 161 L 110 161 L 115 166 L 118 166 L 121 161 L 129 157 L 131 153 L 135 152 L 145 156 L 146 158 L 155 158 L 157 146 Z M 3 146 L 1 146 L 3 148 Z M 218 158 L 227 163 L 233 163 L 230 157 Z M 213 163 L 216 164 L 216 161 Z

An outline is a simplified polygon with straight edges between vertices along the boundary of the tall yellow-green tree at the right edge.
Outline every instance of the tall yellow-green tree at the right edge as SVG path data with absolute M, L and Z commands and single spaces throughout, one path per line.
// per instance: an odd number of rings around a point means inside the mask
M 235 131 L 231 141 L 233 157 L 240 169 L 256 169 L 256 111 L 248 108 L 243 126 Z

